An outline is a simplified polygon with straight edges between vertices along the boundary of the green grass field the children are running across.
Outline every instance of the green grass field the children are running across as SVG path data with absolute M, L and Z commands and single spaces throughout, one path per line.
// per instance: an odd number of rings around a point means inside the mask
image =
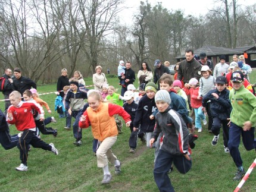
M 251 82 L 256 82 L 256 70 L 250 75 Z M 85 79 L 87 85 L 92 84 L 91 78 Z M 108 78 L 110 84 L 117 86 L 117 78 Z M 138 82 L 135 84 L 138 87 Z M 54 92 L 55 84 L 39 86 L 39 93 Z M 120 90 L 118 90 L 120 92 Z M 102 185 L 102 169 L 96 166 L 96 157 L 92 152 L 93 137 L 90 128 L 83 130 L 82 146 L 74 146 L 73 131 L 64 130 L 65 119 L 59 119 L 54 112 L 55 94 L 42 95 L 41 99 L 48 102 L 57 124 L 58 137 L 41 134 L 42 140 L 54 143 L 59 155 L 35 149 L 29 152 L 29 171 L 18 172 L 15 167 L 20 165 L 19 151 L 16 148 L 4 150 L 0 147 L 0 191 L 158 191 L 152 174 L 154 168 L 154 149 L 147 149 L 138 142 L 135 154 L 129 153 L 130 129 L 123 127 L 123 133 L 118 136 L 113 152 L 122 162 L 122 174 L 114 175 L 114 166 L 110 166 L 113 178 L 108 185 Z M 2 94 L 0 95 L 2 99 Z M 4 102 L 0 102 L 4 109 Z M 74 119 L 72 119 L 72 122 Z M 17 133 L 14 125 L 10 127 L 11 134 Z M 192 153 L 192 169 L 182 175 L 177 169 L 171 172 L 170 179 L 176 191 L 233 191 L 239 182 L 232 181 L 236 172 L 235 163 L 229 153 L 224 153 L 223 137 L 216 146 L 211 146 L 213 135 L 207 127 L 198 133 L 196 147 Z M 243 166 L 245 169 L 256 158 L 255 150 L 247 152 L 240 146 Z M 256 191 L 256 170 L 243 185 L 241 191 Z

